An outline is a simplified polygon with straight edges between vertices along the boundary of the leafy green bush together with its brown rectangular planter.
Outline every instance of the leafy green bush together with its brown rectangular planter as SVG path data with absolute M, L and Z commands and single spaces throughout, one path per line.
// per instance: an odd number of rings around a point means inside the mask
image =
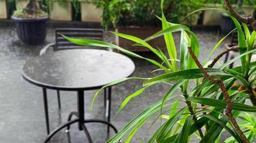
M 178 22 L 183 16 L 186 16 L 189 12 L 197 9 L 201 4 L 202 3 L 198 1 L 176 1 L 175 3 L 167 1 L 165 13 L 167 14 L 168 19 L 171 19 L 172 22 Z M 144 39 L 161 29 L 160 22 L 157 19 L 157 16 L 161 14 L 161 10 L 155 9 L 155 7 L 160 6 L 158 0 L 97 0 L 96 6 L 99 6 L 104 11 L 102 17 L 105 29 L 114 26 L 118 32 L 131 34 L 140 37 L 141 39 Z M 154 14 L 157 16 L 154 16 Z M 186 19 L 186 21 L 183 22 L 190 25 L 194 24 L 197 21 L 195 18 L 197 16 L 198 15 L 194 15 L 193 19 Z M 150 27 L 148 25 L 150 25 Z M 150 41 L 150 44 L 160 49 L 165 49 L 163 43 L 163 37 Z M 148 51 L 148 49 L 144 49 L 141 46 L 132 46 L 131 41 L 119 38 L 118 36 L 116 36 L 116 44 L 131 51 Z

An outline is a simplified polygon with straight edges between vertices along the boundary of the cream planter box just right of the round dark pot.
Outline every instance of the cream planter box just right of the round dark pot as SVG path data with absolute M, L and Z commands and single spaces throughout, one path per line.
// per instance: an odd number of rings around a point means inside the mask
M 60 21 L 71 21 L 72 20 L 72 0 L 65 0 L 61 4 L 57 0 L 51 1 L 50 8 L 50 19 Z

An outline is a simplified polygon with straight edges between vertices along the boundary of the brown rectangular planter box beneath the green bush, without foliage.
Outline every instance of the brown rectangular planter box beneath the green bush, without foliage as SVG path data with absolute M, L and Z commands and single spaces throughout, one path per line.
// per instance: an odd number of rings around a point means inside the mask
M 140 39 L 145 39 L 148 36 L 152 36 L 152 34 L 155 34 L 157 31 L 160 31 L 161 28 L 152 28 L 152 27 L 119 27 L 116 29 L 117 32 L 129 34 L 132 36 L 137 36 Z M 161 49 L 165 50 L 165 39 L 163 36 L 160 36 L 156 39 L 152 39 L 150 41 L 147 41 L 148 44 L 150 44 L 155 49 Z M 116 36 L 116 44 L 121 46 L 124 49 L 129 49 L 130 51 L 149 51 L 146 47 L 143 46 L 132 46 L 134 42 L 129 41 L 127 39 L 120 38 L 119 36 Z

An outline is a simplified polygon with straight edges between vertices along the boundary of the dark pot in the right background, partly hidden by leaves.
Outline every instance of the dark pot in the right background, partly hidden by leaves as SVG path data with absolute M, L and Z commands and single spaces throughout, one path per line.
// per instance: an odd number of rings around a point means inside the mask
M 227 14 L 221 14 L 221 33 L 228 34 L 229 31 L 232 31 L 235 26 L 232 19 Z

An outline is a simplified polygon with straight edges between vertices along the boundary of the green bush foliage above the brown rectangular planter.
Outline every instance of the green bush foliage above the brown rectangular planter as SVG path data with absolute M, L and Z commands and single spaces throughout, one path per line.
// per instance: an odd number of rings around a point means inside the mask
M 191 11 L 203 6 L 203 1 L 166 1 L 165 15 L 170 21 L 178 23 L 181 17 L 186 16 Z M 109 26 L 160 26 L 160 22 L 153 16 L 160 15 L 160 0 L 96 0 L 96 6 L 104 10 L 103 25 Z M 119 9 L 116 9 L 118 7 Z M 198 16 L 194 15 L 182 21 L 191 24 Z

